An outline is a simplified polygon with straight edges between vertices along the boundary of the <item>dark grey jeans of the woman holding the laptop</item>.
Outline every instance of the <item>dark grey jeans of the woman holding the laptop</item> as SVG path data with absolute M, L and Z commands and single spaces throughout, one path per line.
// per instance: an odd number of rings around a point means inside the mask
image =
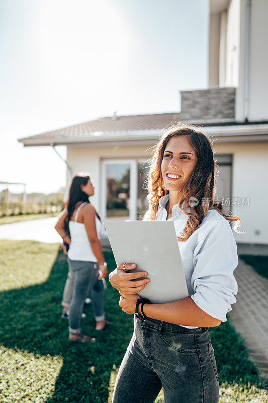
M 134 316 L 112 403 L 218 403 L 219 380 L 208 327 L 189 329 Z

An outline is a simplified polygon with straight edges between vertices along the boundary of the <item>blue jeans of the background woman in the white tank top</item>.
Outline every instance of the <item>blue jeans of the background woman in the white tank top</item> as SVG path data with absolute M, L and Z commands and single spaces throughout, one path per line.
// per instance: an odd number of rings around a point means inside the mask
M 74 272 L 72 299 L 69 305 L 69 331 L 80 331 L 81 314 L 85 298 L 91 294 L 92 307 L 97 320 L 104 319 L 104 283 L 98 280 L 99 264 L 94 261 L 71 260 L 69 268 Z

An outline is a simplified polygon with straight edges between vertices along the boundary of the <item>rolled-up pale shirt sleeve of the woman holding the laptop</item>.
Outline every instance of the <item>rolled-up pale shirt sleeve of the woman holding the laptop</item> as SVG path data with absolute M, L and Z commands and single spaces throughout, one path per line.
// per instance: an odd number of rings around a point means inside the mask
M 226 322 L 236 302 L 237 282 L 233 272 L 238 264 L 237 247 L 227 221 L 212 226 L 194 252 L 191 284 L 193 301 L 210 316 Z

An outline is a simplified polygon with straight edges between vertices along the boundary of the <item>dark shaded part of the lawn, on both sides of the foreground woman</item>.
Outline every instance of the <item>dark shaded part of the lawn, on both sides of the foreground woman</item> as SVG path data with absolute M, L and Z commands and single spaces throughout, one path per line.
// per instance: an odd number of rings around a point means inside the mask
M 110 271 L 113 270 L 116 264 L 112 253 L 105 252 L 105 258 Z M 88 306 L 88 315 L 82 319 L 82 331 L 96 336 L 98 341 L 96 344 L 71 344 L 67 340 L 68 323 L 60 318 L 67 271 L 66 259 L 60 252 L 46 282 L 0 294 L 0 344 L 36 356 L 63 358 L 53 396 L 41 401 L 105 403 L 109 398 L 111 374 L 119 367 L 131 339 L 133 317 L 122 313 L 118 293 L 107 281 L 105 310 L 112 325 L 104 332 L 94 330 L 95 320 Z M 220 384 L 258 383 L 257 369 L 234 328 L 224 322 L 210 329 L 210 334 Z

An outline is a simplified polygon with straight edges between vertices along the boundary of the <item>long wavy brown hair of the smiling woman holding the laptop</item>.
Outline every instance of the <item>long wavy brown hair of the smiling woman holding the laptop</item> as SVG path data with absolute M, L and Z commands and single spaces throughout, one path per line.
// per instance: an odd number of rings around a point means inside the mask
M 144 220 L 155 220 L 160 197 L 169 193 L 169 191 L 164 188 L 161 163 L 167 143 L 172 137 L 176 136 L 187 136 L 190 145 L 195 149 L 198 157 L 198 162 L 188 182 L 183 187 L 178 203 L 178 209 L 182 213 L 189 215 L 189 218 L 183 230 L 184 237 L 177 236 L 177 240 L 181 242 L 187 241 L 202 223 L 208 210 L 216 210 L 226 220 L 235 221 L 234 231 L 239 232 L 237 229 L 241 223 L 240 218 L 224 215 L 222 212 L 222 201 L 214 199 L 215 176 L 218 165 L 214 162 L 214 154 L 211 146 L 212 141 L 199 127 L 190 124 L 178 124 L 171 127 L 161 136 L 159 142 L 154 147 L 154 154 L 146 182 L 148 189 L 146 198 L 149 201 L 149 209 L 145 213 Z M 191 196 L 199 200 L 199 203 L 194 207 L 189 205 Z M 206 200 L 206 203 L 202 203 L 203 198 Z M 183 205 L 185 210 L 182 208 Z M 186 211 L 188 207 L 191 210 L 190 213 Z

